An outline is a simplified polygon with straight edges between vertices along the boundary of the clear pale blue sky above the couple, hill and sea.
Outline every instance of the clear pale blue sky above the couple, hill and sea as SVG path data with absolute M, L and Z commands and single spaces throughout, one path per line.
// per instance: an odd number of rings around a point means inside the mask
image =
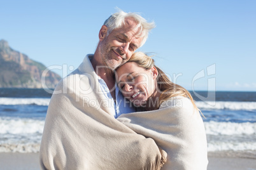
M 65 67 L 76 68 L 94 53 L 101 25 L 117 7 L 156 23 L 139 50 L 154 53 L 177 84 L 256 91 L 254 0 L 1 1 L 0 39 L 46 67 L 63 66 L 53 71 L 66 75 Z

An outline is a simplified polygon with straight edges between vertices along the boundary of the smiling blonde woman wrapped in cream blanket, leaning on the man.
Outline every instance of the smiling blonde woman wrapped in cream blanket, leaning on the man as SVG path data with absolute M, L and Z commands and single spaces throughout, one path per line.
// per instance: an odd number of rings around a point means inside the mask
M 167 152 L 162 169 L 207 169 L 203 120 L 190 93 L 138 52 L 117 69 L 118 88 L 139 110 L 118 120 Z M 150 148 L 149 148 L 150 149 Z

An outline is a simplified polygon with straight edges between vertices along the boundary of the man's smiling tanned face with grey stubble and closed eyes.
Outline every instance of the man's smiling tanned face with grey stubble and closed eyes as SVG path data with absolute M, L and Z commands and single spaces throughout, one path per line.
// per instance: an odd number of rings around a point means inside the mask
M 139 37 L 136 22 L 130 19 L 125 24 L 112 30 L 101 41 L 100 53 L 102 61 L 111 69 L 116 69 L 129 60 L 134 51 L 139 48 L 143 37 Z

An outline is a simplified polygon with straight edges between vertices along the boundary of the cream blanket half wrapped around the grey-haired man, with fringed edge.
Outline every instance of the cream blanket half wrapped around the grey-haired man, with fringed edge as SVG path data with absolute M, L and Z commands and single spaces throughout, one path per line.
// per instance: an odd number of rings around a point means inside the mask
M 46 114 L 41 169 L 160 169 L 166 152 L 111 114 L 89 56 L 55 88 Z

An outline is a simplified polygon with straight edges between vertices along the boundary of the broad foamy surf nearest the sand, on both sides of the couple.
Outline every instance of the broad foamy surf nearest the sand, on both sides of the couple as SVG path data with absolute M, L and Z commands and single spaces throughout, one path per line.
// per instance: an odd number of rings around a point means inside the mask
M 45 121 L 0 117 L 0 152 L 39 152 Z M 204 122 L 208 151 L 256 150 L 256 123 Z

